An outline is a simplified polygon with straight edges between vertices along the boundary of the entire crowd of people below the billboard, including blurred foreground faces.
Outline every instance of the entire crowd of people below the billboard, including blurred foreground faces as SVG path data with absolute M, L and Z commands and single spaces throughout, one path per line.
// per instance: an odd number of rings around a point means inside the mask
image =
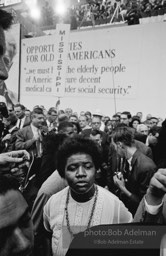
M 0 10 L 0 83 L 11 24 Z M 72 241 L 92 227 L 165 224 L 165 137 L 166 120 L 142 112 L 3 104 L 0 255 L 73 255 Z M 161 246 L 164 256 L 165 238 Z

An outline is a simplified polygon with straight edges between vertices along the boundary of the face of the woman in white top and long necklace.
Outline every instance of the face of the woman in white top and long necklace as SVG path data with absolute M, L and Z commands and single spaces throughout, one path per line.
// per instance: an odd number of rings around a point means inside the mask
M 77 153 L 67 159 L 65 178 L 74 193 L 87 193 L 95 182 L 96 169 L 92 157 Z

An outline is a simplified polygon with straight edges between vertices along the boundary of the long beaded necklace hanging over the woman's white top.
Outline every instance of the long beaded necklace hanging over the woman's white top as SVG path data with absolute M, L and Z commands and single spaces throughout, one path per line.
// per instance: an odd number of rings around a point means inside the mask
M 71 234 L 72 237 L 74 237 L 76 234 L 74 234 L 72 232 L 71 227 L 70 227 L 70 221 L 69 221 L 69 212 L 68 212 L 69 194 L 70 194 L 70 191 L 68 190 L 67 197 L 66 197 L 66 205 L 65 205 L 66 222 L 67 222 L 67 228 L 68 228 L 69 233 Z M 96 186 L 95 195 L 94 195 L 94 202 L 93 202 L 91 214 L 90 214 L 90 217 L 89 217 L 87 229 L 90 228 L 90 225 L 91 225 L 91 221 L 92 221 L 93 214 L 94 214 L 95 207 L 96 207 L 97 197 L 98 197 L 98 187 Z

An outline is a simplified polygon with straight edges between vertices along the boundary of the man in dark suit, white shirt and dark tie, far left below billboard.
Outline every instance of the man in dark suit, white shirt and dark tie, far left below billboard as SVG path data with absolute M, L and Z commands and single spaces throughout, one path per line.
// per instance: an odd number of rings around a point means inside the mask
M 14 106 L 14 112 L 18 118 L 16 126 L 22 129 L 25 126 L 30 125 L 30 117 L 25 116 L 25 107 L 22 104 L 16 104 Z

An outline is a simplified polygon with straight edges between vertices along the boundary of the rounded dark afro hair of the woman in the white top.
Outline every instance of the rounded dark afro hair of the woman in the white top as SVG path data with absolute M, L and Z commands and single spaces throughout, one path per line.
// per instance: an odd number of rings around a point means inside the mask
M 65 178 L 65 166 L 67 159 L 78 153 L 85 153 L 92 157 L 96 170 L 101 166 L 101 152 L 99 147 L 90 138 L 85 138 L 81 135 L 68 137 L 59 147 L 57 154 L 57 170 L 62 178 Z

